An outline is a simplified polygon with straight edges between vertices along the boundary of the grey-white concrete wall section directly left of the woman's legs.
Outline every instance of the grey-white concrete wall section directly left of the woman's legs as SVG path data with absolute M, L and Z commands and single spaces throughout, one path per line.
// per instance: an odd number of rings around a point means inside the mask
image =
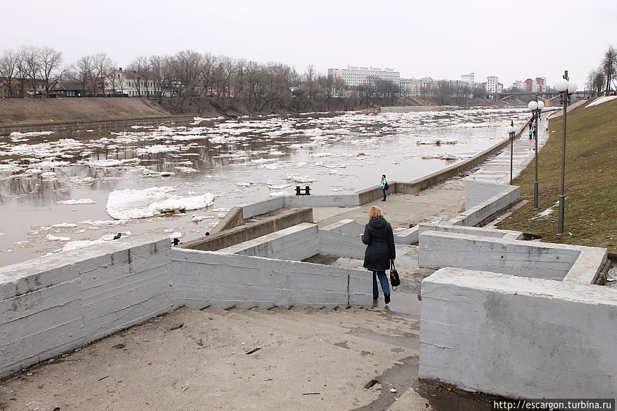
M 176 305 L 203 308 L 372 305 L 368 272 L 308 262 L 173 249 Z

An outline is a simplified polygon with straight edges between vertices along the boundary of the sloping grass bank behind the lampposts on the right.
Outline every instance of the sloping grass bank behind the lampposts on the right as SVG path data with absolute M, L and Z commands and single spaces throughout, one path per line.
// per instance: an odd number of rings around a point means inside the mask
M 563 118 L 549 121 L 550 137 L 538 155 L 539 209 L 533 210 L 534 162 L 513 184 L 529 203 L 497 227 L 542 236 L 542 241 L 605 247 L 617 252 L 617 99 L 568 112 L 564 234 L 557 236 Z

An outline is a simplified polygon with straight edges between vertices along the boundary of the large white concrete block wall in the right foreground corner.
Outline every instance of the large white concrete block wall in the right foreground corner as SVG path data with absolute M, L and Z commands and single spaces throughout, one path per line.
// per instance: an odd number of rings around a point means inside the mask
M 441 269 L 422 282 L 420 371 L 515 398 L 615 398 L 617 290 Z

